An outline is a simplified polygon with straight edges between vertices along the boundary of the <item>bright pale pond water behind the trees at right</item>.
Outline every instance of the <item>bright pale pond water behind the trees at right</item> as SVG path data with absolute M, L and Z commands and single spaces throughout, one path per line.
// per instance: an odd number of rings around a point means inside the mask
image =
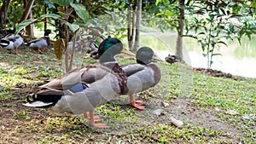
M 140 44 L 154 48 L 156 55 L 164 60 L 168 54 L 174 55 L 176 37 L 176 33 L 142 33 Z M 256 78 L 256 37 L 253 36 L 251 41 L 244 37 L 241 44 L 237 40 L 226 43 L 228 47 L 222 44 L 217 49 L 222 55 L 213 57 L 212 69 Z M 183 47 L 184 60 L 187 64 L 207 68 L 207 58 L 202 55 L 201 47 L 194 38 L 184 37 Z

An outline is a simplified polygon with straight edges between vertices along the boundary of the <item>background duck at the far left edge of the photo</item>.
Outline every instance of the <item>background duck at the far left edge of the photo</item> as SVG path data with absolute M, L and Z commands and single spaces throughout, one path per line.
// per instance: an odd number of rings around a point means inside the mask
M 7 36 L 0 40 L 0 45 L 4 49 L 15 49 L 15 55 L 18 55 L 18 48 L 23 43 L 23 31 L 20 31 L 17 35 L 9 33 Z

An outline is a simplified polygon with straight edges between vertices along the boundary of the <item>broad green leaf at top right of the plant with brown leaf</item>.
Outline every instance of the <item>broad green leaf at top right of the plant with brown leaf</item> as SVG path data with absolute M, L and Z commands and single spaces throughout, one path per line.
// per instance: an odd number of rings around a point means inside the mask
M 89 20 L 88 11 L 85 9 L 84 5 L 79 3 L 70 3 L 70 5 L 75 9 L 76 13 L 79 15 L 79 18 L 86 23 Z

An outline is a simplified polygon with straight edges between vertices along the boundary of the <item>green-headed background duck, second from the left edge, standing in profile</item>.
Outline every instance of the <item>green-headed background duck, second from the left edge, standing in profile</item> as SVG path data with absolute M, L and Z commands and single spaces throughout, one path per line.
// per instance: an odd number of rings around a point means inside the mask
M 28 46 L 29 48 L 37 49 L 40 54 L 44 54 L 42 49 L 47 48 L 50 44 L 49 33 L 51 33 L 51 31 L 49 29 L 47 29 L 44 31 L 44 37 L 34 39 L 29 42 L 24 42 L 24 44 L 26 46 Z

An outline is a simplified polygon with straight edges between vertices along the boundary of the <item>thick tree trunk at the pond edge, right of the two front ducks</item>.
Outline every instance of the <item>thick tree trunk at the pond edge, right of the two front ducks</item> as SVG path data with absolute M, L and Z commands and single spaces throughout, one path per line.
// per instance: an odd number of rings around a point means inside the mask
M 178 7 L 179 7 L 179 21 L 177 26 L 177 41 L 176 41 L 176 51 L 175 55 L 177 56 L 178 60 L 183 60 L 183 28 L 184 28 L 184 6 L 185 6 L 185 0 L 179 0 L 178 1 Z

